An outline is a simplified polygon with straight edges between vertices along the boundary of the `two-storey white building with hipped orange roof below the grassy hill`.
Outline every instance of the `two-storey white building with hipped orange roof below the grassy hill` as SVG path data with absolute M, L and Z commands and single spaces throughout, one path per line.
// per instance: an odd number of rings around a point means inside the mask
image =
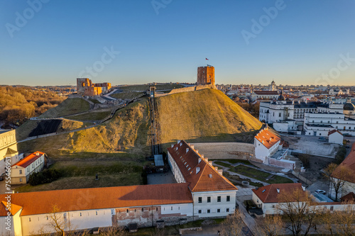
M 195 215 L 222 217 L 234 212 L 238 189 L 194 145 L 179 140 L 168 148 L 168 162 L 176 181 L 188 184 Z

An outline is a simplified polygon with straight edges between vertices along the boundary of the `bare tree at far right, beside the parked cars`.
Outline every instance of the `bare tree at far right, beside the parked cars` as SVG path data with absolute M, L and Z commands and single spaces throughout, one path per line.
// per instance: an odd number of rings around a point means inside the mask
M 339 191 L 342 189 L 346 183 L 346 179 L 351 176 L 351 171 L 349 168 L 331 163 L 324 169 L 324 176 L 329 180 L 331 189 L 335 192 L 335 201 L 338 201 Z

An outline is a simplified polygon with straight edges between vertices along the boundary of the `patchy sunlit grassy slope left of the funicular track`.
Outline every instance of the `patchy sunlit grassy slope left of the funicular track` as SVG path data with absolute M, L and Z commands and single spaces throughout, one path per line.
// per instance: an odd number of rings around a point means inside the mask
M 19 145 L 23 151 L 41 150 L 59 159 L 71 155 L 102 157 L 93 153 L 133 153 L 144 157 L 150 152 L 148 120 L 148 102 L 144 100 L 121 109 L 113 119 L 94 128 L 29 140 Z M 133 147 L 136 148 L 133 150 Z

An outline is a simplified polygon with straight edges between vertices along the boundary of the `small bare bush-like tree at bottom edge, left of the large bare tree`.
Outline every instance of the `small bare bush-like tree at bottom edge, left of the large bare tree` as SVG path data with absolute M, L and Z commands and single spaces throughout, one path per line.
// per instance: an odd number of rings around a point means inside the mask
M 280 215 L 266 215 L 258 226 L 260 235 L 278 236 L 283 235 L 285 223 Z

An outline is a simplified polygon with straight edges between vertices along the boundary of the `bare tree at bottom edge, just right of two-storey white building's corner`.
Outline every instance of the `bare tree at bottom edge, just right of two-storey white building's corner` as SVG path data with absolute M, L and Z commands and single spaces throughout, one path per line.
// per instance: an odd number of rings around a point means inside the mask
M 226 220 L 222 223 L 222 236 L 237 236 L 241 235 L 241 230 L 243 228 L 242 222 L 243 219 L 241 218 L 242 214 L 238 209 L 232 215 L 228 215 Z

